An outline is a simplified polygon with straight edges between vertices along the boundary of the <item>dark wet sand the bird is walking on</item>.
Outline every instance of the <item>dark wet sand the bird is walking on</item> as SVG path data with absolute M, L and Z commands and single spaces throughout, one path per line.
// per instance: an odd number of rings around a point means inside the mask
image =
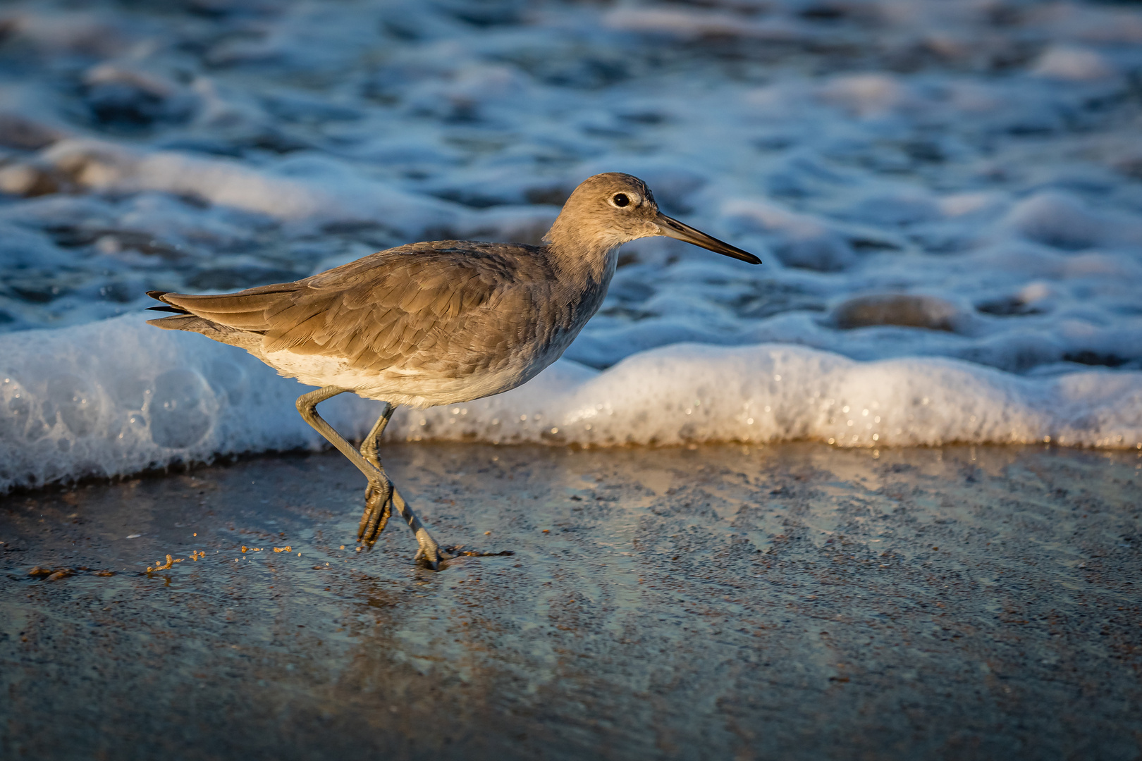
M 336 453 L 0 499 L 0 756 L 1142 751 L 1135 452 L 384 454 L 442 544 L 513 554 L 354 551 Z

